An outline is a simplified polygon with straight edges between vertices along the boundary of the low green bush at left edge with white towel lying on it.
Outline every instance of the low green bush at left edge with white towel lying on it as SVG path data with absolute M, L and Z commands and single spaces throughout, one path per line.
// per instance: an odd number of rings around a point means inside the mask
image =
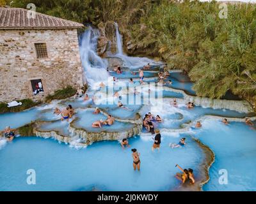
M 39 105 L 41 103 L 41 102 L 34 102 L 31 99 L 22 99 L 17 102 L 18 103 L 21 102 L 22 105 L 8 108 L 7 103 L 0 103 L 0 113 L 20 112 L 22 110 L 26 110 L 33 106 Z

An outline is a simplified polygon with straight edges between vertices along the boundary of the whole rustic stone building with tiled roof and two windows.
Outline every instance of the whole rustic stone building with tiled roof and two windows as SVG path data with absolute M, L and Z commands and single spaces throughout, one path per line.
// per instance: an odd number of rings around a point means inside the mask
M 77 38 L 83 24 L 28 12 L 0 7 L 1 102 L 41 100 L 67 85 L 83 86 Z

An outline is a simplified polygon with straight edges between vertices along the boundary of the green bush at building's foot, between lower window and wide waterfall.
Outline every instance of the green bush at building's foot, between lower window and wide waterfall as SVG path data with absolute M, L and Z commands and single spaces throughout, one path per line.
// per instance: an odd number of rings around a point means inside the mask
M 71 96 L 74 96 L 76 94 L 76 89 L 74 89 L 72 86 L 67 86 L 64 89 L 59 89 L 54 92 L 54 94 L 50 94 L 46 96 L 45 101 L 47 103 L 51 102 L 54 99 L 65 99 L 70 98 Z

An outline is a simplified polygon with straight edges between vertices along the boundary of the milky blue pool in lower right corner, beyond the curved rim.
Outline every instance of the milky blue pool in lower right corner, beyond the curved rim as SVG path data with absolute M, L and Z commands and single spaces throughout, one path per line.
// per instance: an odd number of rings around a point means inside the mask
M 195 136 L 216 156 L 205 191 L 256 191 L 256 129 L 244 122 L 226 126 L 220 120 L 205 120 Z M 227 170 L 227 184 L 219 182 L 223 169 Z

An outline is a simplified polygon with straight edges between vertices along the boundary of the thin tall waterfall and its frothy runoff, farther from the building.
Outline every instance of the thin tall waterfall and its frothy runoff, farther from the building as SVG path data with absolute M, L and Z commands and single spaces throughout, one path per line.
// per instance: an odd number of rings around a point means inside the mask
M 162 64 L 161 62 L 153 61 L 152 59 L 148 59 L 147 57 L 129 57 L 123 54 L 122 35 L 119 33 L 118 24 L 115 23 L 115 27 L 116 27 L 116 50 L 117 50 L 115 57 L 119 57 L 124 61 L 123 66 L 129 67 L 131 69 L 138 69 L 138 68 L 142 68 L 148 63 L 150 65 L 155 65 L 155 66 Z

